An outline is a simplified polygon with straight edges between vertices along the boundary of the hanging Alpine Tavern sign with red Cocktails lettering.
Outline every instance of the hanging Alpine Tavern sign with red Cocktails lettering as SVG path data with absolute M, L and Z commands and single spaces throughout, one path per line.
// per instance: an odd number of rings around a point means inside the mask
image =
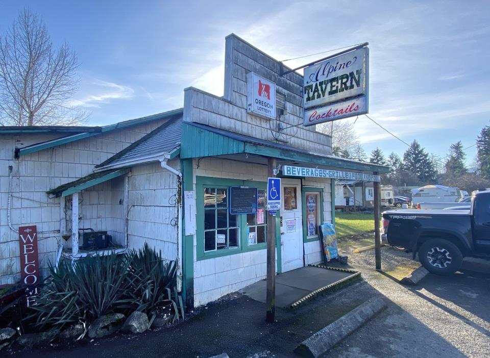
M 305 68 L 303 124 L 367 113 L 368 70 L 367 47 Z

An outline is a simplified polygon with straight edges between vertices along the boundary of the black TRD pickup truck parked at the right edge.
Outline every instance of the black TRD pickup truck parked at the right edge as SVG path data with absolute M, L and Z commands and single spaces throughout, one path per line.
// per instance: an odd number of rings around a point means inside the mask
M 432 273 L 449 275 L 463 257 L 490 259 L 490 190 L 474 194 L 470 210 L 388 210 L 383 239 L 412 250 Z

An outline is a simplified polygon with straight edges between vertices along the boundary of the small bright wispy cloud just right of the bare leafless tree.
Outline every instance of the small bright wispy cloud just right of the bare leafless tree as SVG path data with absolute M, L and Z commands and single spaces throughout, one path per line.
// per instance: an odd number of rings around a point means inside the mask
M 74 107 L 100 108 L 101 104 L 108 104 L 112 99 L 128 99 L 134 96 L 134 90 L 131 87 L 113 82 L 95 80 L 89 86 L 89 91 L 94 94 L 72 99 L 68 104 Z

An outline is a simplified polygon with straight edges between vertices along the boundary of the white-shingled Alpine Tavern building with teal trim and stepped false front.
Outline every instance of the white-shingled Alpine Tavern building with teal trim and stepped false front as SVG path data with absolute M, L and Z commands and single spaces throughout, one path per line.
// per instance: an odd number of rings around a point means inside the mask
M 277 273 L 322 262 L 332 176 L 373 180 L 386 168 L 333 157 L 331 137 L 303 125 L 303 76 L 284 70 L 231 34 L 223 97 L 189 87 L 183 108 L 114 125 L 2 127 L 0 284 L 20 280 L 16 231 L 29 225 L 41 276 L 50 262 L 146 242 L 178 262 L 188 306 L 264 279 L 268 158 L 281 178 Z

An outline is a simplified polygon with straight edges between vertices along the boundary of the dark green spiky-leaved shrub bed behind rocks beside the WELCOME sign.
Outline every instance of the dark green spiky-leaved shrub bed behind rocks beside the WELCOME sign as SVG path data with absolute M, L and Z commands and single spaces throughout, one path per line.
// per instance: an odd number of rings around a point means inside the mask
M 141 311 L 155 317 L 159 303 L 165 300 L 172 303 L 174 321 L 179 319 L 177 302 L 184 314 L 175 288 L 175 261 L 164 263 L 161 252 L 157 254 L 146 243 L 124 257 L 95 255 L 78 260 L 75 267 L 61 261 L 50 272 L 32 306 L 34 312 L 26 318 L 35 319 L 41 328 L 90 323 L 115 312 Z

